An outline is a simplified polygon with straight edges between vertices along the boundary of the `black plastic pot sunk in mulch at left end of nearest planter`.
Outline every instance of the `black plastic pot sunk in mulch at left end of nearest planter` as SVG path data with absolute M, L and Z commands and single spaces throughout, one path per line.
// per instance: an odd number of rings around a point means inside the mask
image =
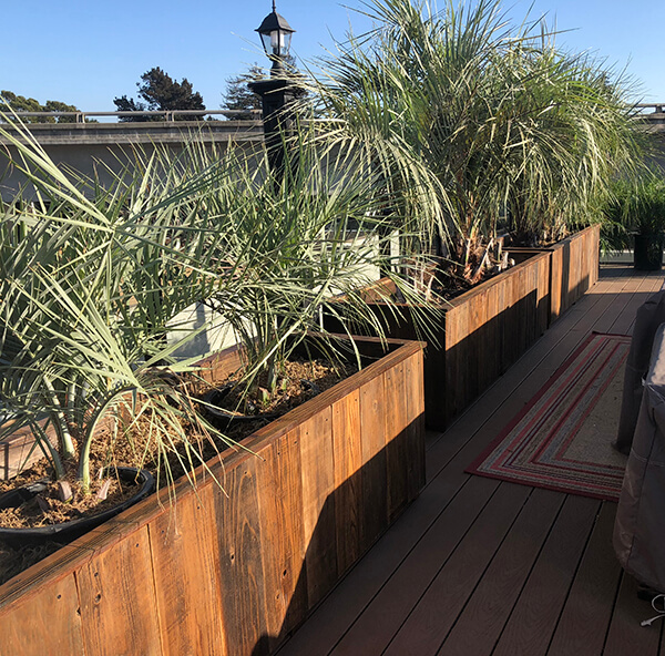
M 10 546 L 34 546 L 48 540 L 70 542 L 141 501 L 144 496 L 147 496 L 155 486 L 154 476 L 146 470 L 139 470 L 133 467 L 119 467 L 115 471 L 122 481 L 132 482 L 137 480 L 141 485 L 141 489 L 136 494 L 126 499 L 120 505 L 96 515 L 81 517 L 80 520 L 71 520 L 69 522 L 62 522 L 61 524 L 49 524 L 48 526 L 38 526 L 33 529 L 0 527 L 0 540 Z M 43 490 L 43 482 L 40 481 L 6 492 L 0 495 L 0 509 L 16 508 L 33 496 L 37 496 Z

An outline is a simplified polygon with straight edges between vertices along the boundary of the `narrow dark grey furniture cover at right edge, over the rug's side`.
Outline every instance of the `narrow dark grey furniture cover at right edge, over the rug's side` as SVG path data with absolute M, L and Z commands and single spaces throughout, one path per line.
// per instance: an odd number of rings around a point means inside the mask
M 642 404 L 642 381 L 648 370 L 654 336 L 658 326 L 665 322 L 665 291 L 654 294 L 637 309 L 631 350 L 624 375 L 621 417 L 615 447 L 627 455 L 633 443 L 637 414 Z

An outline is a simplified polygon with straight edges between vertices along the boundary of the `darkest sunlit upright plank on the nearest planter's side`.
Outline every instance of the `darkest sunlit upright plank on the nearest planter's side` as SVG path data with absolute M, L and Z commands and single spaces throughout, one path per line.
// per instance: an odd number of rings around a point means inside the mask
M 257 459 L 226 473 L 225 490 L 213 486 L 218 535 L 222 617 L 233 656 L 260 656 L 269 649 L 258 511 Z

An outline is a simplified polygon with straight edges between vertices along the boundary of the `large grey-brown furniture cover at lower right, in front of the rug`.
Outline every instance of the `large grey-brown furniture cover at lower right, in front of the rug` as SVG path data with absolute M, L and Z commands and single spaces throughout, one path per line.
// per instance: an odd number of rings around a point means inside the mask
M 614 551 L 640 583 L 665 592 L 665 324 L 654 337 L 616 511 Z

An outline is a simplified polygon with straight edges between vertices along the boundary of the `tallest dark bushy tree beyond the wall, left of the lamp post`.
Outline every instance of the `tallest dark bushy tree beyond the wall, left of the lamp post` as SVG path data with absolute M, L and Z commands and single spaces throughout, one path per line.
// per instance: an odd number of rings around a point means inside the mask
M 183 78 L 176 82 L 158 66 L 151 69 L 141 75 L 139 96 L 144 102 L 135 101 L 133 98 L 121 95 L 113 99 L 113 104 L 120 112 L 142 111 L 171 111 L 171 110 L 205 110 L 201 93 L 194 92 L 192 83 Z M 193 116 L 181 115 L 176 120 L 191 120 Z M 195 116 L 201 120 L 203 116 Z M 122 116 L 121 121 L 161 121 L 162 117 L 153 116 Z

